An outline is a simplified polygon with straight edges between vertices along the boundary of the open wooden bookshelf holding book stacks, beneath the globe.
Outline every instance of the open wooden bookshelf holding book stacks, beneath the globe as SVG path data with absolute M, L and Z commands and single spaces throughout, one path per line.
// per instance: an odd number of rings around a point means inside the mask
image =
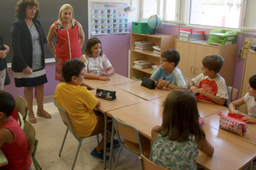
M 154 42 L 155 46 L 161 46 L 161 54 L 164 51 L 168 51 L 169 49 L 174 49 L 175 47 L 175 39 L 177 36 L 175 35 L 167 35 L 167 34 L 157 34 L 157 35 L 146 35 L 146 34 L 130 34 L 130 59 L 129 59 L 129 78 L 132 76 L 147 76 L 150 77 L 153 71 L 153 68 L 144 68 L 140 69 L 134 67 L 134 60 L 148 60 L 154 65 L 158 65 L 161 62 L 161 55 L 154 54 L 153 51 L 139 51 L 135 50 L 134 42 L 135 41 L 150 41 Z

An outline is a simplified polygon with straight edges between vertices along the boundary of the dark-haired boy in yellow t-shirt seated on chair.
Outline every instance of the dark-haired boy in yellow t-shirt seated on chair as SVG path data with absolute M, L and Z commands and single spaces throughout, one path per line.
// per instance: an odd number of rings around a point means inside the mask
M 62 67 L 62 77 L 66 83 L 59 83 L 54 93 L 56 103 L 63 107 L 69 115 L 75 134 L 78 137 L 93 136 L 104 132 L 104 115 L 99 111 L 93 111 L 100 107 L 100 100 L 96 99 L 87 87 L 80 86 L 83 82 L 84 63 L 78 59 L 67 60 Z M 108 123 L 111 130 L 111 123 Z M 109 135 L 107 135 L 109 141 Z M 110 146 L 110 144 L 108 144 Z M 107 145 L 107 147 L 108 147 Z M 114 140 L 114 145 L 119 145 Z M 93 158 L 103 160 L 104 137 L 100 144 L 90 153 Z M 107 155 L 106 160 L 109 160 Z

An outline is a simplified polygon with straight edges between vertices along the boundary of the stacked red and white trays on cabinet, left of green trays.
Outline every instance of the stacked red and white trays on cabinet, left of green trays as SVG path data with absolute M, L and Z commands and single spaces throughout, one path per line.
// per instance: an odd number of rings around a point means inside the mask
M 205 31 L 192 31 L 192 29 L 179 29 L 178 39 L 184 41 L 203 41 Z

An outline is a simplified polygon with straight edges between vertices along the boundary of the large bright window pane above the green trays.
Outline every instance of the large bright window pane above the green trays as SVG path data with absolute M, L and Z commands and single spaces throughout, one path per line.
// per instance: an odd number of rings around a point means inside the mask
M 190 25 L 238 28 L 241 0 L 191 0 Z

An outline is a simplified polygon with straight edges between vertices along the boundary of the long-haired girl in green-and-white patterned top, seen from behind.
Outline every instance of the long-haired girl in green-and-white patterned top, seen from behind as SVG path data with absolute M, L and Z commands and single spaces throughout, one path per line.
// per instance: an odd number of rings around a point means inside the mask
M 197 169 L 198 148 L 213 155 L 199 124 L 197 101 L 186 90 L 171 91 L 163 103 L 163 123 L 151 130 L 153 162 L 167 169 Z

